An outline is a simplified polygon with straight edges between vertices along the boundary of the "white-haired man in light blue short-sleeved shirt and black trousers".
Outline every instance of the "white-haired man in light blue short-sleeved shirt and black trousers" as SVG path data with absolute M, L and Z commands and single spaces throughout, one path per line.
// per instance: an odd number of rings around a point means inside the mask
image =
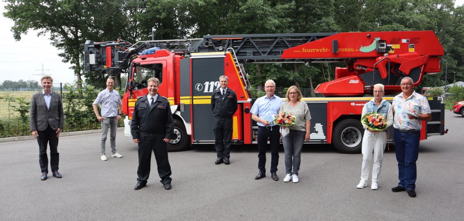
M 273 119 L 278 114 L 282 98 L 274 95 L 275 82 L 267 80 L 264 84 L 266 95 L 258 98 L 251 107 L 251 119 L 258 124 L 258 169 L 259 173 L 255 180 L 266 177 L 266 148 L 267 140 L 271 147 L 271 178 L 278 181 L 277 164 L 279 162 L 279 126 L 274 125 Z

